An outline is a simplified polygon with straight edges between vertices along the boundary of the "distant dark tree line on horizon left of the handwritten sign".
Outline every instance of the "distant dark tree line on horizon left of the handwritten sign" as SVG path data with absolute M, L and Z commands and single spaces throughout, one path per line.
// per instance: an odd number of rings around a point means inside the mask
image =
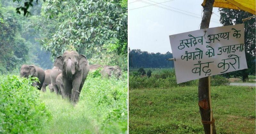
M 169 51 L 165 54 L 148 53 L 140 49 L 129 50 L 129 67 L 130 68 L 173 68 L 173 61 L 167 59 L 172 58 Z

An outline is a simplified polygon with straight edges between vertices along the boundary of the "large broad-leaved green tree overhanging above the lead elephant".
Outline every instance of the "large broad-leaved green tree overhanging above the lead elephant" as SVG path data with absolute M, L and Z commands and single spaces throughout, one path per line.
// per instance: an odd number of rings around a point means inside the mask
M 88 56 L 102 51 L 104 44 L 116 44 L 116 53 L 127 55 L 127 7 L 121 4 L 120 0 L 46 0 L 45 15 L 60 24 L 43 48 L 52 57 L 67 49 Z

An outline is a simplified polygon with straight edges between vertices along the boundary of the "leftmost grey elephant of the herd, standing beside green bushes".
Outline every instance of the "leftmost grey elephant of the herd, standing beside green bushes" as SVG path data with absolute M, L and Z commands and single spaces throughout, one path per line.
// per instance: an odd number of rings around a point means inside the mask
M 32 85 L 38 86 L 37 89 L 41 90 L 45 78 L 44 70 L 35 65 L 23 64 L 20 68 L 20 77 L 28 78 L 28 76 L 37 77 L 39 79 L 39 82 L 34 82 Z

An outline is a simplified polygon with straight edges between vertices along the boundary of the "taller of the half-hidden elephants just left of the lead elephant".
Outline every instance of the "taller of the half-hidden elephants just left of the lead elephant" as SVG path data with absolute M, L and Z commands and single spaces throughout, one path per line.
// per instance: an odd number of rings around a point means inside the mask
M 55 92 L 56 94 L 60 94 L 59 89 L 56 85 L 56 78 L 62 71 L 59 67 L 54 66 L 51 70 L 50 77 L 51 77 L 51 86 L 49 86 L 50 92 Z

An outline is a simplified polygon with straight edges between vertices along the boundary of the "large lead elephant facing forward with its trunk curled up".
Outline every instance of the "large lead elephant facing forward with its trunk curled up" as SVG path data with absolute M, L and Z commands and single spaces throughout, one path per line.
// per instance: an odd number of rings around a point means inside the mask
M 90 70 L 86 57 L 76 51 L 65 51 L 55 59 L 54 65 L 62 70 L 64 94 L 76 102 Z

